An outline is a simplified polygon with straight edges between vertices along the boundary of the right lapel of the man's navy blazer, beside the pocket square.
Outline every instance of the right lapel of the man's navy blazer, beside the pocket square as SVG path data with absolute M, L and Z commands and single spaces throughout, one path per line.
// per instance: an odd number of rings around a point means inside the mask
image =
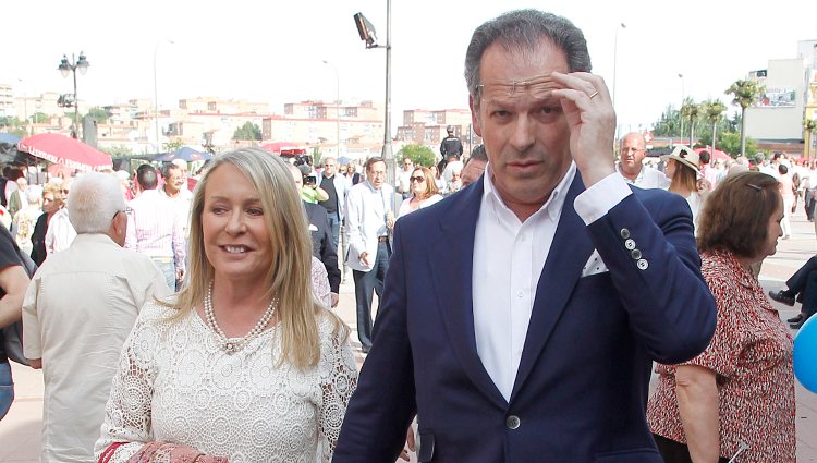
M 550 334 L 568 305 L 573 288 L 582 276 L 584 264 L 593 254 L 593 243 L 585 232 L 585 223 L 573 208 L 576 196 L 584 192 L 584 183 L 576 172 L 564 198 L 564 206 L 550 245 L 539 283 L 536 288 L 534 308 L 525 337 L 525 348 L 516 371 L 511 401 L 524 385 L 536 360 L 545 349 Z

